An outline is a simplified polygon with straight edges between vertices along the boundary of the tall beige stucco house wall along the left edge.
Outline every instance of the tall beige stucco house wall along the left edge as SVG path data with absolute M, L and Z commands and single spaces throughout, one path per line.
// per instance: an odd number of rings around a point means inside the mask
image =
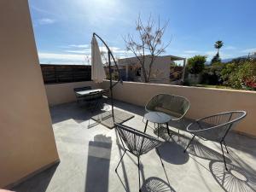
M 58 160 L 27 0 L 0 1 L 0 188 Z

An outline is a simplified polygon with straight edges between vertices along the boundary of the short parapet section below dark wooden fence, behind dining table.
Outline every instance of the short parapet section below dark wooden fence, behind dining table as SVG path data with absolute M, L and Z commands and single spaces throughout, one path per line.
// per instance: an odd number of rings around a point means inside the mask
M 91 86 L 99 88 L 100 84 L 95 84 L 92 81 L 74 82 L 67 84 L 45 84 L 45 90 L 49 102 L 49 106 L 58 105 L 65 102 L 75 102 L 73 88 Z

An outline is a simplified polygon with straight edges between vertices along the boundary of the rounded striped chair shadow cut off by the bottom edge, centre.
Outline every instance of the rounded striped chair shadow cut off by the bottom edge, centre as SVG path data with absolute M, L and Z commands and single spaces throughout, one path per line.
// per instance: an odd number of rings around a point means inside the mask
M 175 192 L 175 190 L 159 177 L 148 177 L 141 188 L 142 192 Z

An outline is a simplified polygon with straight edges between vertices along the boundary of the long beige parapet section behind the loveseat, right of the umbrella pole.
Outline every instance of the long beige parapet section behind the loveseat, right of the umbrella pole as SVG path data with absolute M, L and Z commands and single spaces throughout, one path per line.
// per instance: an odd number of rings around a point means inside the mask
M 102 88 L 108 88 L 108 81 Z M 245 90 L 219 90 L 208 88 L 186 87 L 169 84 L 143 84 L 124 82 L 113 89 L 115 99 L 144 106 L 149 99 L 158 93 L 185 96 L 189 99 L 188 117 L 198 119 L 213 113 L 230 110 L 246 110 L 247 117 L 236 127 L 236 131 L 256 136 L 256 92 Z

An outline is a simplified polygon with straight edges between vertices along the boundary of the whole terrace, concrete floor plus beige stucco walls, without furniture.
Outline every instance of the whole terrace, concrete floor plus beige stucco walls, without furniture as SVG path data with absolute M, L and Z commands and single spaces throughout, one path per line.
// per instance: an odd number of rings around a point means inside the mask
M 108 89 L 109 82 L 44 84 L 28 1 L 1 0 L 0 5 L 0 188 L 13 187 L 17 192 L 137 191 L 135 158 L 126 155 L 117 175 L 114 168 L 122 149 L 115 131 L 102 125 L 88 129 L 92 114 L 75 103 L 73 88 Z M 113 96 L 123 101 L 115 102 L 115 108 L 135 114 L 125 125 L 143 130 L 143 106 L 158 93 L 187 97 L 191 119 L 246 110 L 247 117 L 236 131 L 256 136 L 255 91 L 124 82 L 114 88 Z M 52 121 L 49 105 L 53 106 Z M 154 135 L 150 129 L 148 133 Z M 230 154 L 225 154 L 230 172 L 224 172 L 218 143 L 199 140 L 184 154 L 190 135 L 182 134 L 178 141 L 161 132 L 169 140 L 160 147 L 166 174 L 154 150 L 142 156 L 144 191 L 255 191 L 255 139 L 230 133 Z M 45 170 L 59 159 L 58 165 Z

